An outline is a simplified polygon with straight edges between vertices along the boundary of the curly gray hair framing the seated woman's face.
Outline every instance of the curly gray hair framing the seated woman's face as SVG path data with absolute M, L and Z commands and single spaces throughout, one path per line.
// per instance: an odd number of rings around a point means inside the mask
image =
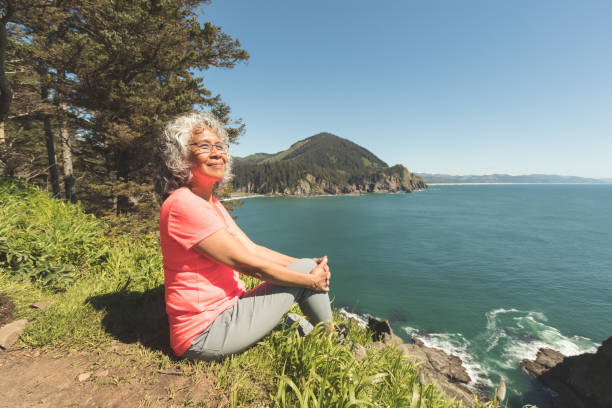
M 166 125 L 159 145 L 162 159 L 160 171 L 160 193 L 166 198 L 179 187 L 189 184 L 192 178 L 189 164 L 189 141 L 194 133 L 204 127 L 211 128 L 221 142 L 229 146 L 229 136 L 219 119 L 210 112 L 192 112 L 179 116 Z M 232 158 L 228 152 L 225 174 L 217 185 L 217 190 L 223 189 L 232 179 Z

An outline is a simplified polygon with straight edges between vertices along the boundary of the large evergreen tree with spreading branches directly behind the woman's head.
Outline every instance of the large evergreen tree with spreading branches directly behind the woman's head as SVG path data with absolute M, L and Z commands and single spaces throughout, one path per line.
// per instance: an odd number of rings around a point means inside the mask
M 44 109 L 28 119 L 44 123 L 49 151 L 60 138 L 68 199 L 73 153 L 83 184 L 79 198 L 92 209 L 120 213 L 154 201 L 155 139 L 170 118 L 210 109 L 232 140 L 243 132 L 220 96 L 194 74 L 248 59 L 237 40 L 199 23 L 205 2 L 24 2 L 13 19 L 14 41 L 46 96 Z M 48 156 L 52 170 L 55 154 Z

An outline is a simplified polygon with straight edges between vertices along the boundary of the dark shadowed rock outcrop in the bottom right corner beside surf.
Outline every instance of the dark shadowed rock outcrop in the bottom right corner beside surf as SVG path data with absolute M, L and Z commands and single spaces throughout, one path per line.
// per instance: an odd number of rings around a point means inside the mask
M 534 361 L 521 365 L 555 392 L 554 408 L 612 407 L 612 337 L 594 354 L 565 357 L 540 349 Z

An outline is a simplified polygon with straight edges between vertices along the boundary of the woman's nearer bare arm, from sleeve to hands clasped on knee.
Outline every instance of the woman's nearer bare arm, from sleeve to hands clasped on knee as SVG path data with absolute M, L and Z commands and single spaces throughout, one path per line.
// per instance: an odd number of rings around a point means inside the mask
M 253 244 L 254 245 L 254 244 Z M 323 259 L 309 274 L 304 274 L 276 263 L 259 251 L 249 250 L 242 241 L 222 228 L 194 246 L 199 253 L 229 266 L 245 275 L 283 286 L 305 287 L 329 291 L 330 273 L 327 259 Z

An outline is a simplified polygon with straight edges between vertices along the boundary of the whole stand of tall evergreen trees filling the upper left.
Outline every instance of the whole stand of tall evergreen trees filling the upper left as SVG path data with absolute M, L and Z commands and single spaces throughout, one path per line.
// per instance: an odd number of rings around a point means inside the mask
M 156 214 L 155 140 L 170 118 L 210 110 L 231 141 L 244 132 L 203 72 L 249 54 L 200 22 L 205 3 L 0 2 L 0 175 L 97 215 Z

